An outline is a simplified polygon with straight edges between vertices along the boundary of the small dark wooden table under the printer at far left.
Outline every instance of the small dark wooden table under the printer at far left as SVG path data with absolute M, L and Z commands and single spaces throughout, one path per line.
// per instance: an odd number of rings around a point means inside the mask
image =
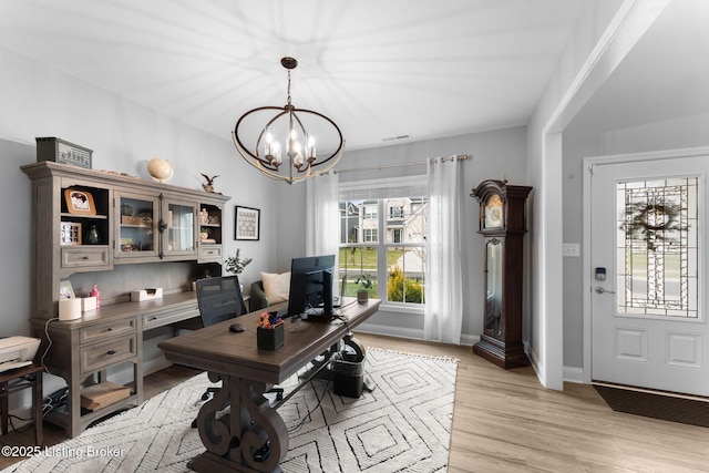
M 12 392 L 32 388 L 32 411 L 34 415 L 34 442 L 42 446 L 42 372 L 37 364 L 17 368 L 0 373 L 0 409 L 2 410 L 2 431 L 8 432 L 8 397 Z

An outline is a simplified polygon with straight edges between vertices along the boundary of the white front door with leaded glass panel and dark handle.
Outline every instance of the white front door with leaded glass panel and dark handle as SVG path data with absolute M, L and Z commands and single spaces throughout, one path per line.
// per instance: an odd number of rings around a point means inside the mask
M 592 378 L 709 395 L 709 156 L 594 164 Z

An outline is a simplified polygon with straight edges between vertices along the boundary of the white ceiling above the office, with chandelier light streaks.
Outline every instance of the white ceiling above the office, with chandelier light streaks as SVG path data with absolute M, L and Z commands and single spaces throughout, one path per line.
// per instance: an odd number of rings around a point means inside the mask
M 291 55 L 294 105 L 361 148 L 526 124 L 583 3 L 0 0 L 0 45 L 225 140 Z

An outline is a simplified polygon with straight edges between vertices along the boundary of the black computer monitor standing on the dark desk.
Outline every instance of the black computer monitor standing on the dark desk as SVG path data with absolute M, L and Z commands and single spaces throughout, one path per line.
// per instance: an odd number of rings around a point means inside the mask
M 333 278 L 335 255 L 294 258 L 290 264 L 288 316 L 330 320 Z

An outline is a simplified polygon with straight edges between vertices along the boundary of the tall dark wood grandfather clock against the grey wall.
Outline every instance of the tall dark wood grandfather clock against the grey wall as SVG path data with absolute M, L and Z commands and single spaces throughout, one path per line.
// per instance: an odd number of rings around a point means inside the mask
M 525 202 L 532 187 L 483 181 L 472 189 L 485 237 L 484 332 L 473 352 L 504 369 L 530 364 L 522 345 Z

